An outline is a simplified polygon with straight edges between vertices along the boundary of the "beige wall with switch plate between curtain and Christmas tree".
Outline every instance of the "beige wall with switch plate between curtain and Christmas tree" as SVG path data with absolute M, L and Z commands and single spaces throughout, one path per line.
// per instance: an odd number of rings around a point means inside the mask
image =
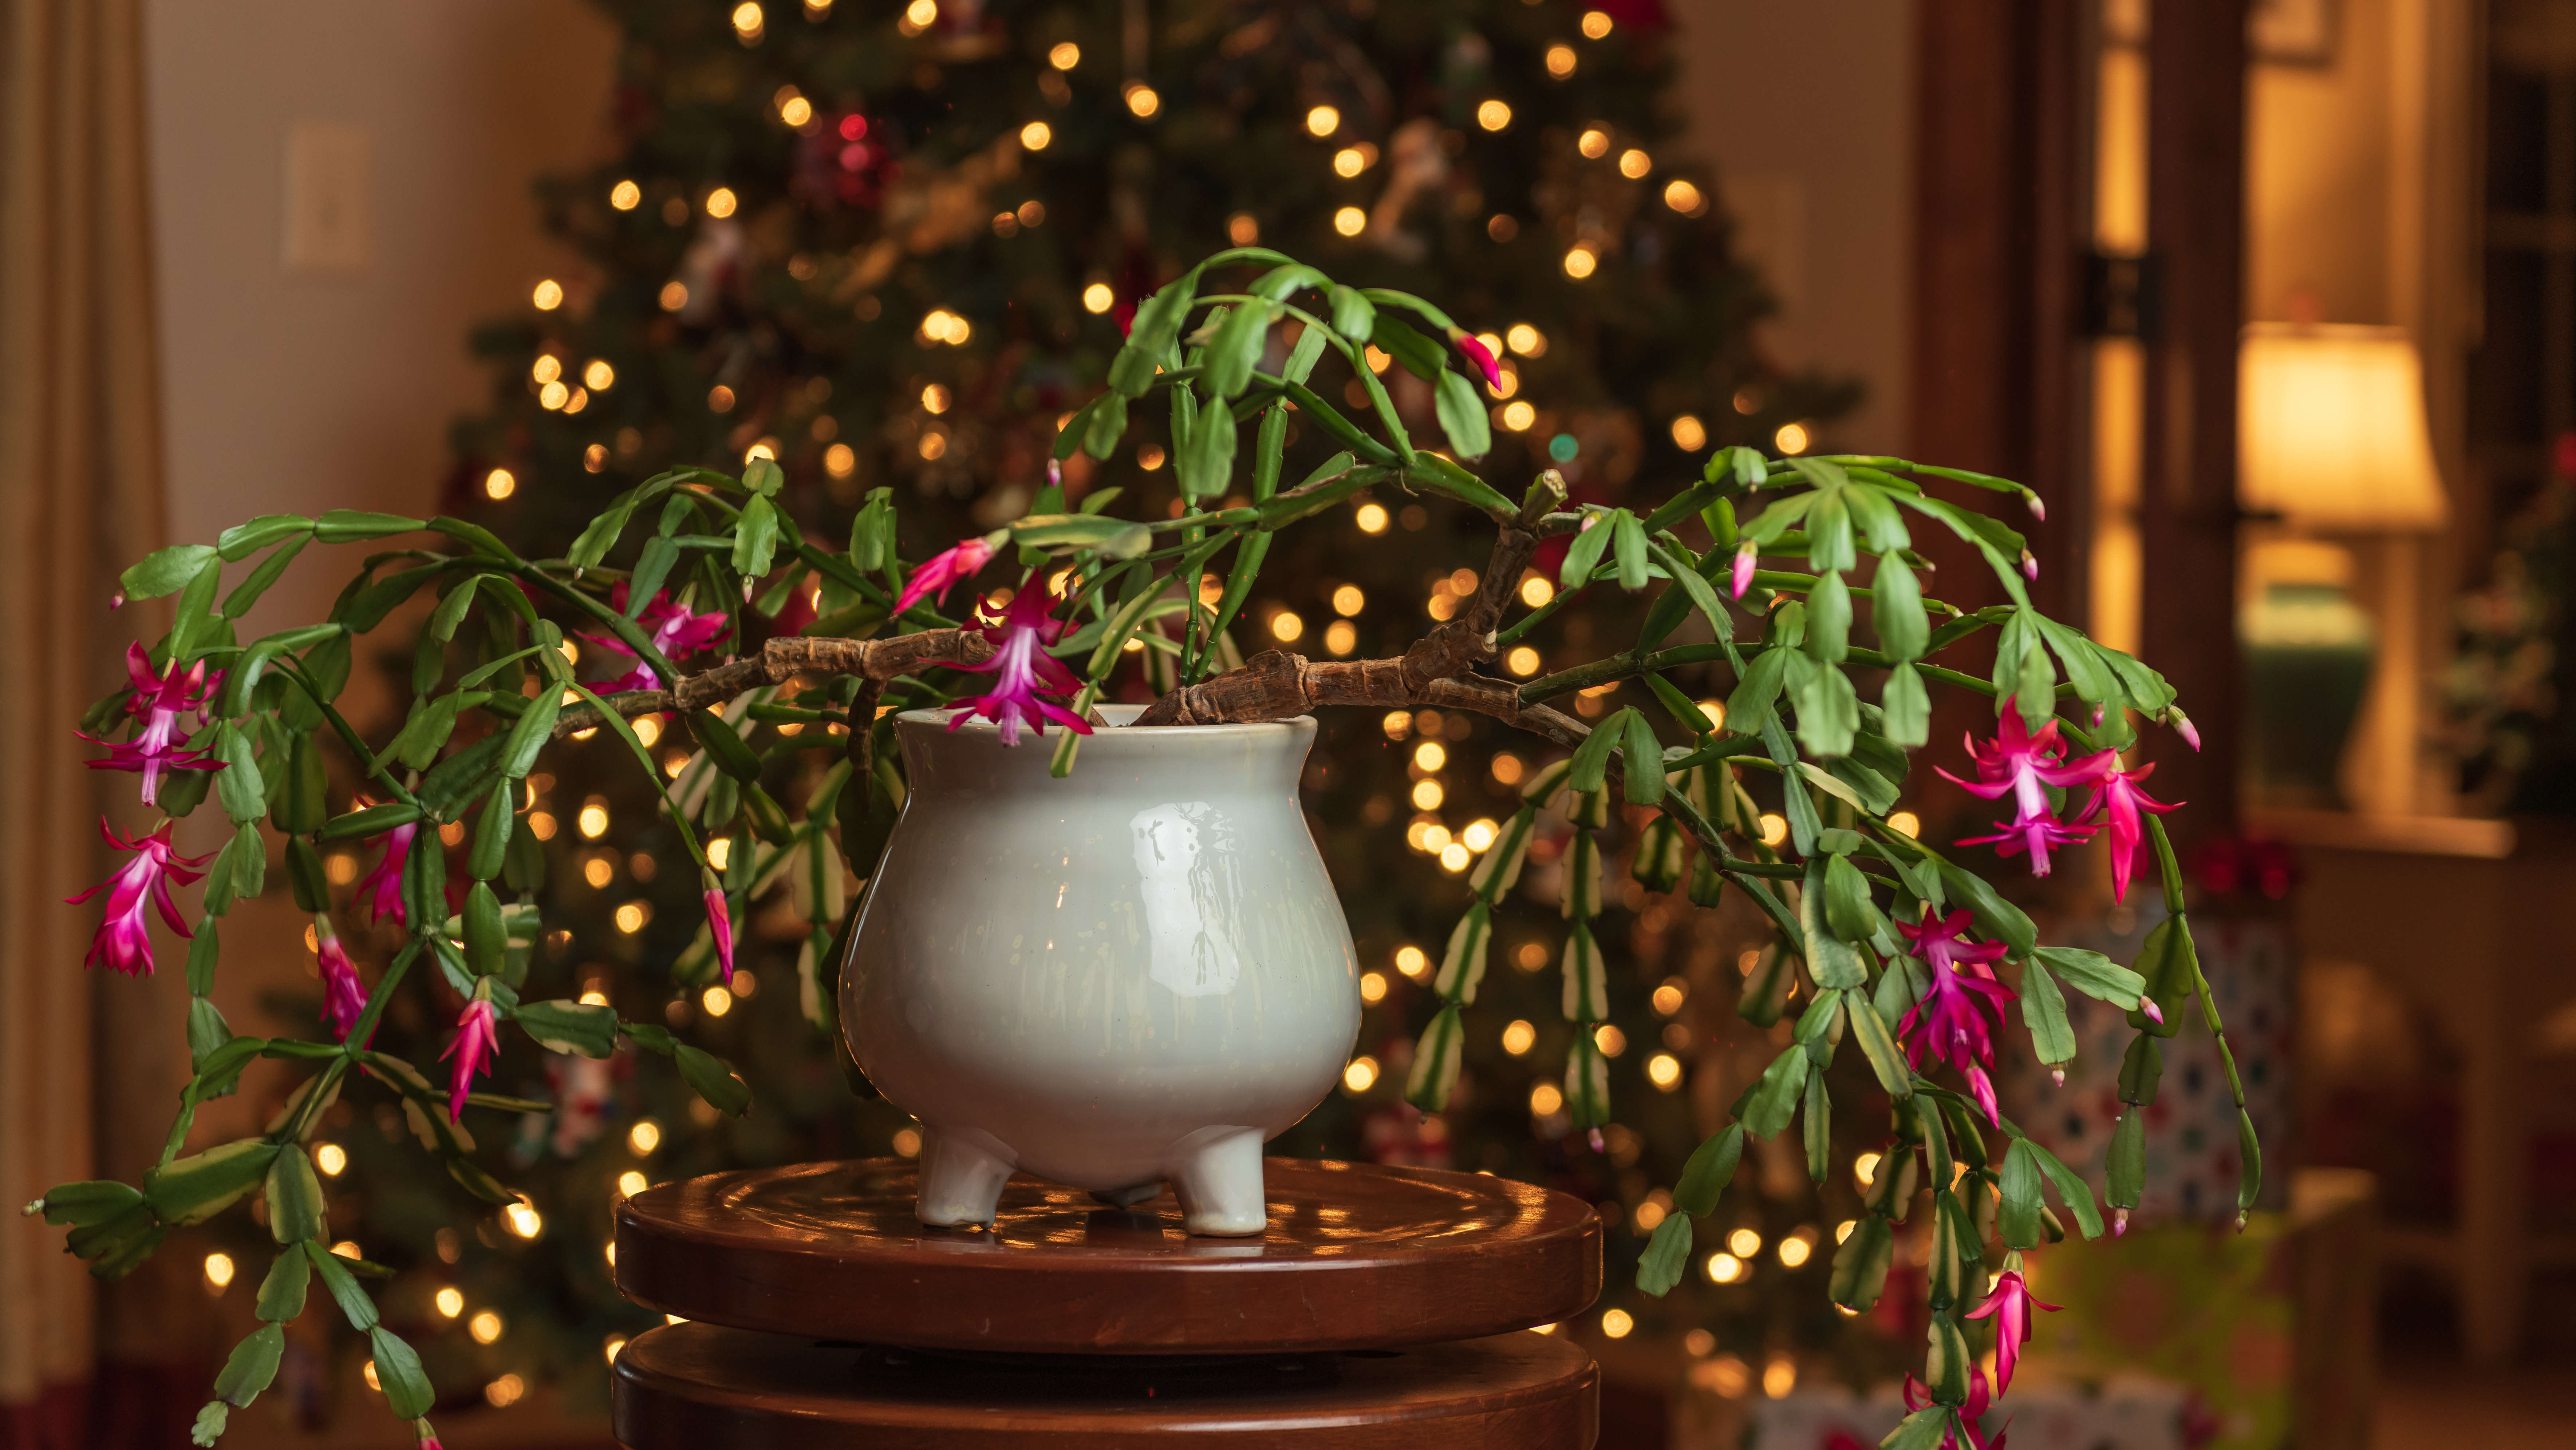
M 448 417 L 484 386 L 466 325 L 559 260 L 528 180 L 603 147 L 608 23 L 582 0 L 147 0 L 144 23 L 170 538 L 430 507 Z M 353 270 L 286 265 L 307 124 L 368 149 Z M 325 574 L 263 616 L 317 616 Z

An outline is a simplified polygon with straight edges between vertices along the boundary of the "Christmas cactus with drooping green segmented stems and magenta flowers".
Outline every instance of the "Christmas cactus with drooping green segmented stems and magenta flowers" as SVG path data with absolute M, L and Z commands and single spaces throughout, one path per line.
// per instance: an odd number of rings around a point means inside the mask
M 1216 278 L 1239 291 L 1216 291 Z M 1373 355 L 1419 381 L 1401 389 L 1417 407 L 1399 407 Z M 1342 376 L 1350 412 L 1327 402 L 1319 368 Z M 706 904 L 706 930 L 675 979 L 732 976 L 737 914 L 796 889 L 811 930 L 806 1002 L 829 1028 L 832 930 L 848 930 L 842 873 L 873 873 L 904 798 L 891 708 L 953 706 L 958 721 L 992 719 L 1005 742 L 1054 752 L 1054 773 L 1069 775 L 1110 693 L 1151 698 L 1126 729 L 1430 706 L 1489 716 L 1564 755 L 1530 775 L 1525 804 L 1468 876 L 1471 904 L 1432 974 L 1437 1010 L 1406 1097 L 1440 1110 L 1455 1087 L 1494 914 L 1543 814 L 1574 829 L 1558 891 L 1569 922 L 1564 1015 L 1577 1025 L 1607 1017 L 1605 950 L 1589 925 L 1602 899 L 1597 832 L 1636 822 L 1641 883 L 1685 889 L 1700 907 L 1744 894 L 1777 932 L 1744 1012 L 1772 1022 L 1793 994 L 1806 1002 L 1793 1043 L 1672 1187 L 1674 1213 L 1654 1231 L 1641 1285 L 1664 1293 L 1680 1280 L 1692 1221 L 1716 1208 L 1747 1136 L 1770 1138 L 1803 1118 L 1808 1167 L 1826 1177 L 1834 1102 L 1824 1066 L 1850 1040 L 1888 1105 L 1873 1097 L 1847 1110 L 1891 1110 L 1899 1151 L 1837 1252 L 1832 1295 L 1855 1311 L 1880 1295 L 1893 1223 L 1917 1185 L 1929 1185 L 1932 1337 L 1922 1386 L 1909 1388 L 1922 1409 L 1891 1442 L 1973 1440 L 1963 1417 L 1989 1386 L 1968 1337 L 1991 1326 L 1999 1380 L 2009 1380 L 2030 1308 L 2045 1308 L 2020 1275 L 2020 1249 L 2063 1236 L 2043 1192 L 2056 1190 L 2087 1236 L 2102 1231 L 2092 1185 L 1996 1107 L 1989 1074 L 2007 1007 L 2020 1007 L 2030 1051 L 2050 1066 L 2074 1056 L 2063 992 L 2128 1010 L 2138 1040 L 2123 1100 L 2133 1105 L 2154 1095 L 2156 1038 L 2174 1030 L 2187 997 L 2218 1030 L 2156 819 L 2169 806 L 2141 791 L 2151 765 L 2128 765 L 2141 724 L 2190 739 L 2190 721 L 2154 670 L 2030 605 L 2032 564 L 2012 528 L 1935 492 L 2007 497 L 2038 515 L 2038 497 L 2017 484 L 1880 456 L 1726 448 L 1698 479 L 1631 487 L 1638 507 L 1569 507 L 1553 471 L 1515 500 L 1473 469 L 1489 451 L 1481 389 L 1492 384 L 1489 345 L 1437 306 L 1337 286 L 1311 265 L 1239 247 L 1146 299 L 1108 386 L 1059 428 L 1059 461 L 1077 448 L 1100 458 L 1128 433 L 1131 410 L 1167 410 L 1177 500 L 1157 518 L 1121 513 L 1118 489 L 1069 500 L 1051 464 L 1036 513 L 907 564 L 889 492 L 866 500 L 848 546 L 824 543 L 786 515 L 781 469 L 755 456 L 739 476 L 693 466 L 629 489 L 556 559 L 520 556 L 466 520 L 376 513 L 255 518 L 214 543 L 152 554 L 126 572 L 121 603 L 175 595 L 170 631 L 131 649 L 131 688 L 100 701 L 82 729 L 108 749 L 95 765 L 139 773 L 142 801 L 162 819 L 142 834 L 106 827 L 129 858 L 82 899 L 106 896 L 93 966 L 152 971 L 152 917 L 191 937 L 193 1079 L 160 1164 L 139 1185 L 64 1185 L 31 1213 L 67 1223 L 72 1252 L 118 1277 L 170 1229 L 260 1195 L 278 1244 L 258 1295 L 263 1324 L 216 1380 L 198 1442 L 222 1432 L 227 1406 L 268 1386 L 281 1324 L 301 1311 L 314 1277 L 368 1337 L 394 1414 L 417 1419 L 428 1440 L 428 1378 L 361 1285 L 379 1270 L 330 1249 L 307 1156 L 322 1110 L 343 1092 L 384 1095 L 466 1192 L 510 1203 L 464 1123 L 469 1110 L 544 1107 L 477 1089 L 518 1043 L 608 1056 L 623 1040 L 672 1056 L 719 1110 L 750 1102 L 726 1064 L 670 1028 L 544 994 L 562 984 L 544 981 L 531 950 L 546 932 L 546 894 L 528 778 L 549 752 L 623 752 L 659 791 Z M 1425 422 L 1443 448 L 1417 438 Z M 1340 448 L 1293 484 L 1283 476 L 1291 430 Z M 1229 628 L 1273 536 L 1370 489 L 1492 520 L 1492 561 L 1473 595 L 1401 657 L 1265 652 L 1244 662 Z M 1927 525 L 1984 556 L 2009 603 L 1960 610 L 1927 598 L 1917 579 L 1927 561 L 1911 538 Z M 327 621 L 237 636 L 234 621 L 309 546 L 397 538 L 366 556 Z M 1553 590 L 1525 590 L 1533 559 L 1556 538 Z M 227 579 L 234 567 L 247 574 Z M 337 703 L 353 646 L 389 628 L 415 595 L 435 605 L 392 626 L 417 631 L 407 644 L 410 708 L 368 739 Z M 1489 670 L 1515 641 L 1605 595 L 1641 600 L 1631 613 L 1643 623 L 1623 649 L 1528 683 Z M 1530 598 L 1546 603 L 1520 608 Z M 943 613 L 951 600 L 963 605 L 956 616 Z M 811 623 L 781 623 L 806 610 Z M 1855 626 L 1873 644 L 1857 641 Z M 1986 634 L 1989 675 L 1935 662 Z M 574 659 L 592 675 L 605 659 L 608 675 L 585 680 Z M 1548 706 L 1628 680 L 1643 685 L 1651 711 L 1587 724 Z M 1695 703 L 1708 680 L 1728 690 L 1723 713 Z M 1891 824 L 1906 752 L 1929 739 L 1932 688 L 1991 701 L 1996 716 L 1994 737 L 1958 760 L 1971 773 L 1953 775 L 2007 811 L 1991 837 L 1973 840 L 2045 876 L 2056 850 L 2107 834 L 2117 894 L 2154 852 L 2169 914 L 2143 971 L 2040 945 L 1994 886 Z M 688 749 L 657 755 L 665 737 Z M 1757 791 L 1777 801 L 1785 829 L 1765 829 Z M 211 855 L 180 855 L 173 824 L 209 798 L 232 837 Z M 283 837 L 286 886 L 314 919 L 327 1030 L 309 1038 L 234 1035 L 206 999 L 219 919 L 265 889 L 270 837 Z M 332 842 L 379 852 L 353 891 L 335 894 L 325 871 Z M 183 886 L 201 886 L 193 925 L 175 899 Z M 335 917 L 361 909 L 402 930 L 374 984 L 335 930 Z M 2017 986 L 1999 971 L 2007 963 Z M 399 992 L 453 1015 L 443 1087 L 435 1066 L 371 1046 Z M 260 1136 L 180 1156 L 196 1107 L 229 1092 L 252 1059 L 307 1074 L 286 1110 Z M 1564 1102 L 1579 1131 L 1607 1123 L 1607 1066 L 1589 1030 L 1571 1035 Z M 2244 1156 L 2251 1200 L 2251 1128 Z M 2123 1223 L 2138 1203 L 2138 1172 L 2141 1115 L 2130 1110 L 2105 1185 Z

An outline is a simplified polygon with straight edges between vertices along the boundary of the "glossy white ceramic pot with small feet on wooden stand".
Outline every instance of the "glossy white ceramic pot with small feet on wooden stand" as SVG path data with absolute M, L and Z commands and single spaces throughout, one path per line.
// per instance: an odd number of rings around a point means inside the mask
M 922 1120 L 922 1223 L 992 1223 L 1018 1169 L 1193 1234 L 1260 1234 L 1262 1144 L 1332 1092 L 1358 956 L 1298 809 L 1314 721 L 1054 742 L 896 716 L 912 796 L 860 901 L 850 1053 Z

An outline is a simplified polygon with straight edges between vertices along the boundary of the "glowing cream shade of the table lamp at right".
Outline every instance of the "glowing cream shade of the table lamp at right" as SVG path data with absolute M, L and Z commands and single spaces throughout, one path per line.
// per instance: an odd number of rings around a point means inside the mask
M 2257 322 L 2236 386 L 2236 492 L 2249 510 L 2318 531 L 2442 525 L 2424 363 L 2403 330 Z

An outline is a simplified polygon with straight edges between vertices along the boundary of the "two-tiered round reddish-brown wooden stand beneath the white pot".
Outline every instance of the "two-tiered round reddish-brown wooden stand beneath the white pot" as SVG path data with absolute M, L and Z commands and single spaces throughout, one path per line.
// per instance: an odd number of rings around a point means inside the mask
M 665 1182 L 618 1290 L 631 1450 L 1239 1445 L 1587 1450 L 1592 1205 L 1481 1174 L 1270 1159 L 1270 1231 L 1190 1239 L 1038 1182 L 989 1231 L 912 1221 L 902 1159 Z

